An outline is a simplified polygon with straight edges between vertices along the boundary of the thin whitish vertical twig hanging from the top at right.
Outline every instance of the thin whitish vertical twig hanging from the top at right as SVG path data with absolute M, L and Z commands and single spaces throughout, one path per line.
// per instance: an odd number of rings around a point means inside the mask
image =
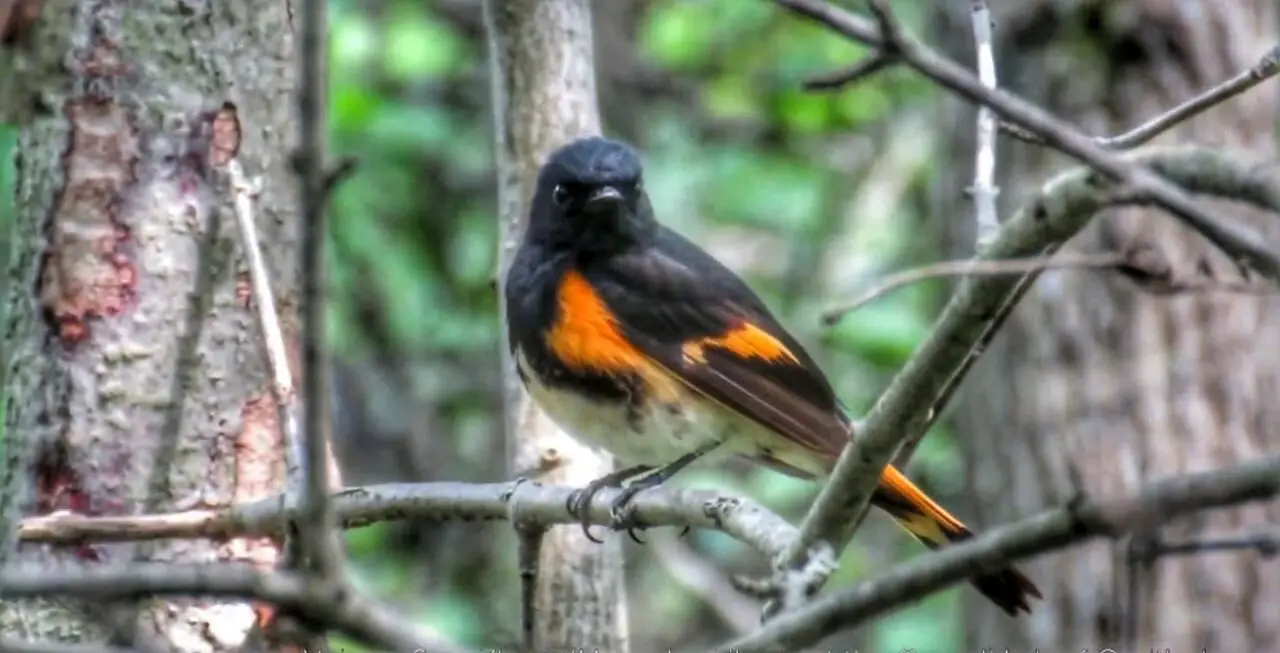
M 995 90 L 996 55 L 991 46 L 991 10 L 987 0 L 973 0 L 973 37 L 978 51 L 978 79 L 984 88 Z M 982 251 L 1000 230 L 996 213 L 996 198 L 1000 196 L 1000 187 L 996 186 L 996 114 L 987 105 L 978 106 L 978 137 L 969 192 L 978 223 L 974 251 Z

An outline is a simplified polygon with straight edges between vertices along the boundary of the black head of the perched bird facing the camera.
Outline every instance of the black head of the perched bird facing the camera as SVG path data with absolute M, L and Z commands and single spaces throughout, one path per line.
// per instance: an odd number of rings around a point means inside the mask
M 530 238 L 579 254 L 608 255 L 657 230 L 640 156 L 626 143 L 580 138 L 548 156 L 538 174 Z

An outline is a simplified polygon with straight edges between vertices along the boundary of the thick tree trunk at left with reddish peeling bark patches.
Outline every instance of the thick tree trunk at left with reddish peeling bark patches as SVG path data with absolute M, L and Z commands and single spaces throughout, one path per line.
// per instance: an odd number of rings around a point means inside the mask
M 227 506 L 282 489 L 261 334 L 220 169 L 261 175 L 257 227 L 296 335 L 292 10 L 288 3 L 45 0 L 0 54 L 0 122 L 20 125 L 0 563 L 275 562 L 269 542 L 14 545 L 23 516 Z M 236 129 L 241 140 L 236 138 Z M 292 332 L 292 333 L 291 333 Z M 32 640 L 159 639 L 230 650 L 246 603 L 0 604 Z

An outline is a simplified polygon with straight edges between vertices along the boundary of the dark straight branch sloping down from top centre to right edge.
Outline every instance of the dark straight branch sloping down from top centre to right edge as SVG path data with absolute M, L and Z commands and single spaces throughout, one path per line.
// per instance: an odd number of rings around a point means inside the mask
M 872 22 L 820 0 L 773 0 L 805 18 L 831 27 L 858 42 L 883 47 L 888 37 Z M 1181 219 L 1222 248 L 1233 260 L 1248 264 L 1267 278 L 1280 279 L 1280 254 L 1245 225 L 1222 220 L 1202 210 L 1181 188 L 1139 165 L 1125 160 L 1079 129 L 1053 118 L 1043 109 L 998 88 L 986 88 L 972 72 L 928 49 L 914 37 L 897 32 L 892 47 L 902 63 L 959 96 L 984 106 L 1028 129 L 1046 143 L 1078 159 L 1138 195 L 1149 196 L 1152 205 Z

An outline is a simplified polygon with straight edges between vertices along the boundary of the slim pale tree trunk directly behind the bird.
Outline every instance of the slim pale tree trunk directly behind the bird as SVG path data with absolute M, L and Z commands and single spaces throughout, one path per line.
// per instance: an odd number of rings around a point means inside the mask
M 488 0 L 485 19 L 502 222 L 498 259 L 506 271 L 524 233 L 538 168 L 564 142 L 599 133 L 600 118 L 589 0 Z M 576 487 L 607 474 L 612 460 L 556 428 L 520 387 L 506 343 L 502 352 L 513 472 L 543 470 L 539 480 Z M 534 650 L 627 649 L 622 548 L 617 536 L 604 542 L 595 544 L 576 528 L 543 538 Z

